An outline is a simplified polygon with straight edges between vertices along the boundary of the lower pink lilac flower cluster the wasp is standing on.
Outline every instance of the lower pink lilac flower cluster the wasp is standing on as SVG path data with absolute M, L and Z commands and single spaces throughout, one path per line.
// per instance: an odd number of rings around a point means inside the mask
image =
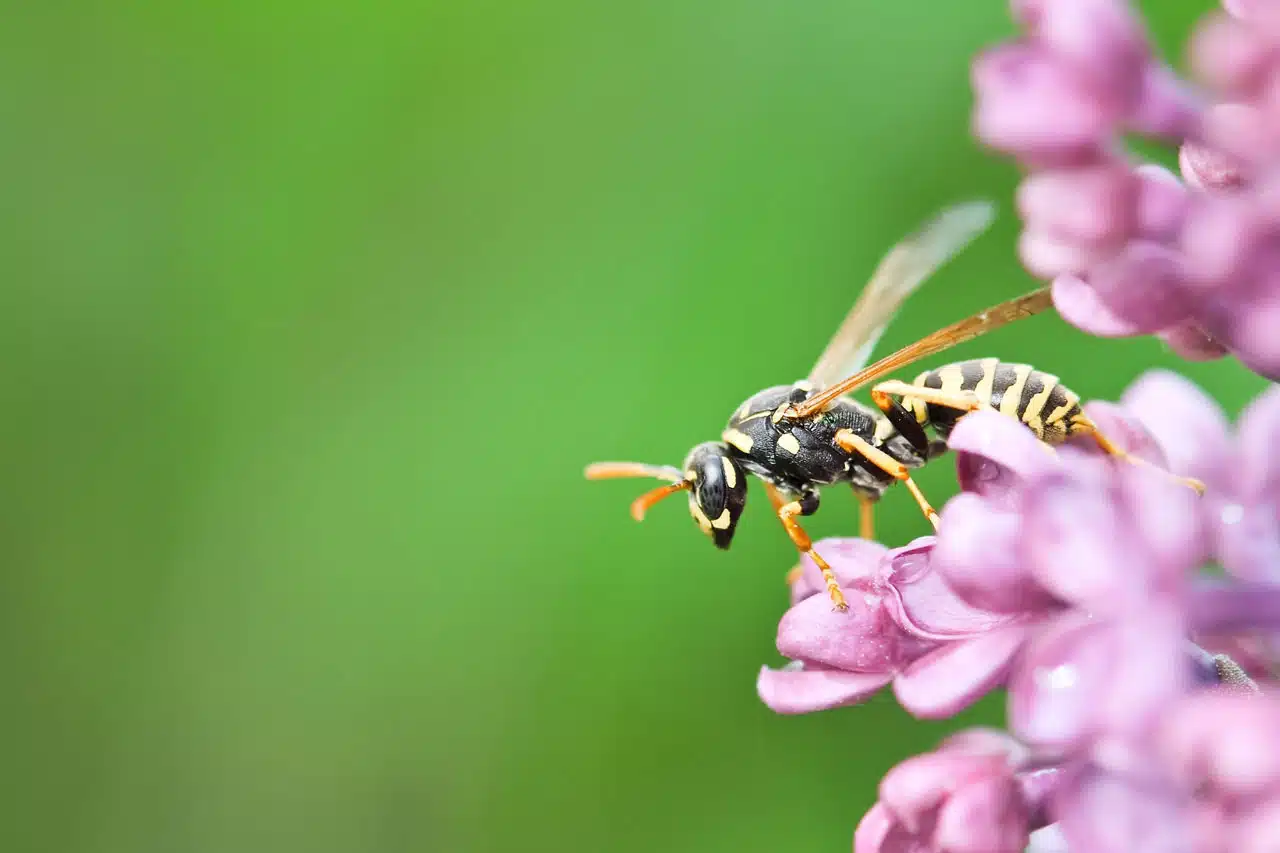
M 1046 452 L 998 412 L 950 437 L 937 537 L 819 546 L 759 694 L 801 713 L 892 685 L 920 717 L 1007 689 L 1009 735 L 963 733 L 884 777 L 855 853 L 1262 850 L 1280 838 L 1280 388 L 1234 429 L 1169 373 L 1087 414 L 1137 462 Z M 1152 415 L 1157 419 L 1152 419 Z M 1148 462 L 1148 464 L 1143 464 Z M 1206 485 L 1203 497 L 1181 476 Z M 1208 562 L 1221 576 L 1202 573 Z M 1258 683 L 1211 643 L 1252 649 Z M 1033 839 L 1033 835 L 1036 836 Z

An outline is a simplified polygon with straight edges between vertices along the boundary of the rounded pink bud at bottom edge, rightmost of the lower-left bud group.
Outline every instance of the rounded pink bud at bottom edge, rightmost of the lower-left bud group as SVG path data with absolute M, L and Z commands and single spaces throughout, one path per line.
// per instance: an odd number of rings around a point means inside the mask
M 1023 853 L 1029 815 L 1009 776 L 964 785 L 938 812 L 934 843 L 947 853 Z

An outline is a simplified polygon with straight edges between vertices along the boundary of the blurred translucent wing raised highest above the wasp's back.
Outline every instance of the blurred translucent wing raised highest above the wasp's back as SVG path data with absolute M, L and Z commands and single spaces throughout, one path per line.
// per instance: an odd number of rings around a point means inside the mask
M 864 368 L 906 297 L 995 218 L 992 202 L 966 201 L 947 207 L 891 248 L 809 373 L 809 382 L 824 388 Z

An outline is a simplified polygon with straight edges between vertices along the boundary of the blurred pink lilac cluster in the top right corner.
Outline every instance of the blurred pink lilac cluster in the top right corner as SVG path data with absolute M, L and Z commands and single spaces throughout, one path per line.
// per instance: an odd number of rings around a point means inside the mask
M 1206 95 L 1125 0 L 1014 0 L 1023 37 L 973 69 L 974 133 L 1029 174 L 1020 255 L 1093 334 L 1280 377 L 1280 4 L 1229 0 L 1190 45 Z M 1179 145 L 1183 181 L 1126 133 Z

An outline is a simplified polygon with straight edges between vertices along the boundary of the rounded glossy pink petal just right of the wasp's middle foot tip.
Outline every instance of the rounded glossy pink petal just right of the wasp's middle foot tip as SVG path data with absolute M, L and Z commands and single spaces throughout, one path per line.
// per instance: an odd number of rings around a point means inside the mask
M 1039 610 L 1052 598 L 1021 558 L 1021 516 L 970 492 L 942 507 L 932 565 L 974 607 L 1006 613 Z

